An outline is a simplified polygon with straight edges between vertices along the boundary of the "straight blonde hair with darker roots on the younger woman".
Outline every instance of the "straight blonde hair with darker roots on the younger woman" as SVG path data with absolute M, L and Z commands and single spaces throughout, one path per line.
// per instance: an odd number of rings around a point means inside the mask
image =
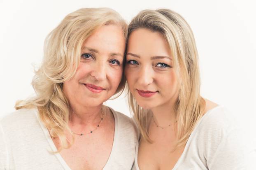
M 178 138 L 175 149 L 183 147 L 205 109 L 205 100 L 200 96 L 198 52 L 193 32 L 182 16 L 169 9 L 141 11 L 128 26 L 128 38 L 133 31 L 140 28 L 160 32 L 169 44 L 179 90 L 174 107 Z M 152 143 L 148 133 L 148 115 L 151 111 L 140 107 L 130 91 L 128 103 L 141 136 Z

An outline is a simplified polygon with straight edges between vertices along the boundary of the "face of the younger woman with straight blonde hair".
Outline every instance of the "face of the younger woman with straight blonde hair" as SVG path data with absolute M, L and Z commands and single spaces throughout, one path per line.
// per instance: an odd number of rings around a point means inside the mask
M 128 39 L 125 75 L 130 92 L 144 109 L 174 104 L 177 77 L 168 43 L 159 32 L 137 29 Z

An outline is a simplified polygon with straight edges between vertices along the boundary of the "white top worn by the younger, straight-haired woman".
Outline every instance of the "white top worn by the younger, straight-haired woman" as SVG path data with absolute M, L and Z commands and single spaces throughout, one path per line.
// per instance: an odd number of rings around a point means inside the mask
M 195 126 L 172 170 L 256 170 L 255 144 L 230 112 L 218 106 Z M 140 170 L 137 154 L 138 146 L 132 170 Z

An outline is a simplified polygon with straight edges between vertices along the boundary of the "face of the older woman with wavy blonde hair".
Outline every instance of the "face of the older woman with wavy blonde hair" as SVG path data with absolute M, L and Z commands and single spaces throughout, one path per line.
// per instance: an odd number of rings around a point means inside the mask
M 122 78 L 124 50 L 120 26 L 104 25 L 86 39 L 77 71 L 63 85 L 71 105 L 95 107 L 114 95 Z

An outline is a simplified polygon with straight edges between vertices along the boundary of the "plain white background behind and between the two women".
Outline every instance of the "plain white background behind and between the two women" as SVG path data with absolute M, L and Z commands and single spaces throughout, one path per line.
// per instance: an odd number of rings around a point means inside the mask
M 128 22 L 142 9 L 181 14 L 197 43 L 202 96 L 228 108 L 244 125 L 254 125 L 256 5 L 250 0 L 0 0 L 0 117 L 33 94 L 33 68 L 42 61 L 45 37 L 82 7 L 110 7 Z M 124 95 L 106 104 L 130 115 Z

